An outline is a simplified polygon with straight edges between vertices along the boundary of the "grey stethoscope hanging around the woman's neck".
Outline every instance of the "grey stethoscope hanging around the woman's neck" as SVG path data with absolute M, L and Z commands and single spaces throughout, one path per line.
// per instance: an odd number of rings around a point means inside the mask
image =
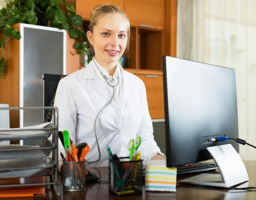
M 97 63 L 95 62 L 95 56 L 93 56 L 93 62 L 94 62 L 94 65 L 96 65 L 96 67 L 99 69 L 99 66 L 97 65 Z M 119 75 L 117 76 L 117 83 L 116 85 L 114 84 L 114 81 L 111 80 L 111 79 L 108 79 L 102 72 L 101 70 L 99 69 L 99 72 L 101 73 L 103 79 L 107 82 L 107 84 L 110 86 L 110 87 L 113 87 L 113 94 L 112 94 L 112 97 L 111 99 L 108 101 L 107 104 L 105 104 L 104 107 L 102 107 L 102 109 L 99 111 L 99 113 L 96 115 L 96 118 L 95 118 L 95 121 L 94 121 L 94 135 L 95 135 L 95 138 L 96 138 L 96 144 L 97 144 L 97 148 L 98 148 L 98 152 L 99 152 L 99 158 L 98 160 L 96 161 L 89 161 L 89 162 L 86 162 L 87 164 L 89 163 L 96 163 L 96 162 L 99 162 L 100 161 L 100 158 L 101 158 L 101 153 L 100 153 L 100 148 L 99 148 L 99 140 L 98 140 L 98 135 L 97 135 L 97 129 L 96 129 L 96 122 L 97 122 L 97 118 L 99 117 L 99 114 L 102 113 L 102 111 L 108 107 L 108 105 L 111 104 L 111 102 L 113 101 L 114 99 L 114 96 L 115 96 L 115 93 L 116 93 L 116 87 L 119 85 Z M 113 85 L 111 84 L 113 82 Z

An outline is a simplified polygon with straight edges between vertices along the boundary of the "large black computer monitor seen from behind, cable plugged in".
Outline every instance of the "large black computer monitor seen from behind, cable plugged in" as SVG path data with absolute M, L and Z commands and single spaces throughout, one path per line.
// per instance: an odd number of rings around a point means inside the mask
M 207 147 L 218 136 L 238 138 L 235 70 L 163 56 L 166 166 L 212 159 Z

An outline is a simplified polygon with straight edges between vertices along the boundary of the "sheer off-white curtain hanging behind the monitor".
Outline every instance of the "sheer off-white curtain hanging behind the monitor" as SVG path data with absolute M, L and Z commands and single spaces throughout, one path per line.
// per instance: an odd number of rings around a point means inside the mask
M 236 69 L 239 138 L 256 146 L 256 0 L 178 0 L 177 57 Z M 256 149 L 240 145 L 243 160 Z

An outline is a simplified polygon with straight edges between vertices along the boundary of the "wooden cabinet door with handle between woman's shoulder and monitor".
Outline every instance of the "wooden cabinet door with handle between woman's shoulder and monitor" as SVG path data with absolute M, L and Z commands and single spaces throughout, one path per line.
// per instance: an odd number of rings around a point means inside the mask
M 151 119 L 164 118 L 163 73 L 154 70 L 126 70 L 134 73 L 144 82 Z

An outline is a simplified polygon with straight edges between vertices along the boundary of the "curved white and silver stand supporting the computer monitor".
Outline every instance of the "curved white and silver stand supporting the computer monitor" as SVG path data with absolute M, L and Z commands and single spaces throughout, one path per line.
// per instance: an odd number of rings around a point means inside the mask
M 244 163 L 231 144 L 207 147 L 207 150 L 220 174 L 201 174 L 180 180 L 180 183 L 228 188 L 249 180 Z

